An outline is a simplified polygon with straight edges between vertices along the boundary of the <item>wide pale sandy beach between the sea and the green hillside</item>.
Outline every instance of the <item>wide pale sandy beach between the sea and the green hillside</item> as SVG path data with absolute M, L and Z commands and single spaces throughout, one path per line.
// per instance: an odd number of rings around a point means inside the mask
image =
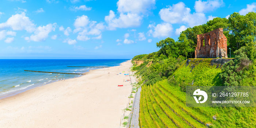
M 124 82 L 131 65 L 129 60 L 0 99 L 0 127 L 119 128 L 132 90 Z

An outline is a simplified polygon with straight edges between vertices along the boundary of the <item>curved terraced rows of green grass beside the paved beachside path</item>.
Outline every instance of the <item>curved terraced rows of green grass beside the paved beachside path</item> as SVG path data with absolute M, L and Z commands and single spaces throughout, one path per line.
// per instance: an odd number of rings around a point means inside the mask
M 140 127 L 143 128 L 205 128 L 209 120 L 201 120 L 193 109 L 188 109 L 163 87 L 161 82 L 143 86 L 140 99 Z

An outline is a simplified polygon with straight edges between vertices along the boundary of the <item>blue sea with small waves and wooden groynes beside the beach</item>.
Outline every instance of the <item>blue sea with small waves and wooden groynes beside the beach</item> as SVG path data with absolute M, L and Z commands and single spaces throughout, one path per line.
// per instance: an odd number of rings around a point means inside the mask
M 79 77 L 95 67 L 113 67 L 128 59 L 0 59 L 0 99 L 61 79 Z M 80 67 L 68 67 L 80 66 Z M 44 72 L 29 72 L 44 71 Z M 64 72 L 78 74 L 58 74 Z

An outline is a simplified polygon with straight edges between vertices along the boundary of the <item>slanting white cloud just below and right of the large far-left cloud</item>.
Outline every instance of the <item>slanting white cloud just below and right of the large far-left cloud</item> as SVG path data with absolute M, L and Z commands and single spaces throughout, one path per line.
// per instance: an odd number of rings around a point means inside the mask
M 30 38 L 28 37 L 25 37 L 25 40 L 27 41 L 45 41 L 45 39 L 48 37 L 48 34 L 51 32 L 51 31 L 55 31 L 55 26 L 56 26 L 56 23 L 53 23 L 53 24 L 48 24 L 46 26 L 39 26 L 37 27 L 37 29 L 35 30 L 34 34 L 32 34 L 30 36 Z

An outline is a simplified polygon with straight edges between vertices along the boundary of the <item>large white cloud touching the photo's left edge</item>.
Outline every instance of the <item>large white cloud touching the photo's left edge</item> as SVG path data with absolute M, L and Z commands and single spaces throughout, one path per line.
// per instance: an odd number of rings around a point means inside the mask
M 0 23 L 0 29 L 10 27 L 12 30 L 26 30 L 31 33 L 35 31 L 35 24 L 26 16 L 25 12 L 12 15 L 6 22 Z

